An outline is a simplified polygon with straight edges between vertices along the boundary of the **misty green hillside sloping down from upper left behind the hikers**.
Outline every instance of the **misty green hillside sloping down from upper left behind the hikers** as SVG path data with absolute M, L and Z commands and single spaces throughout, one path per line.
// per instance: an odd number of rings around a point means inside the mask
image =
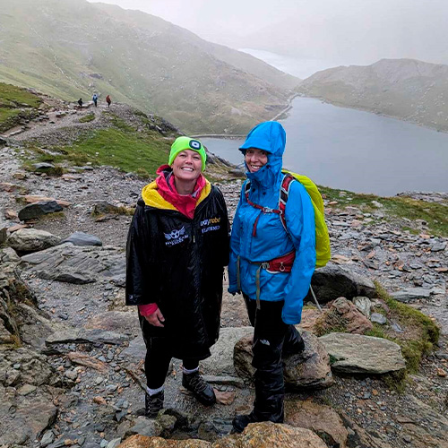
M 0 0 L 0 81 L 133 104 L 185 132 L 244 133 L 300 82 L 138 11 L 85 0 Z

